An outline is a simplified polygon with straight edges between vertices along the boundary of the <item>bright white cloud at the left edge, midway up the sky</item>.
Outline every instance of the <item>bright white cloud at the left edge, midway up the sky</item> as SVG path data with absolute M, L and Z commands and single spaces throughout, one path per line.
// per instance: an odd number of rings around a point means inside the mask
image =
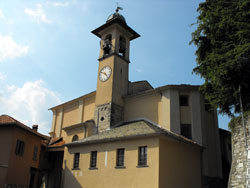
M 0 35 L 0 62 L 4 59 L 22 57 L 28 53 L 28 46 L 18 45 L 11 36 Z

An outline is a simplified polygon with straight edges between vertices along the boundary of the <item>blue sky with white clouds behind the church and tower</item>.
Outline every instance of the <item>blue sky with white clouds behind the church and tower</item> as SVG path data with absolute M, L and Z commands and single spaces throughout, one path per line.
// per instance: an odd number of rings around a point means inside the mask
M 99 38 L 118 0 L 0 1 L 0 114 L 39 131 L 50 130 L 62 102 L 96 89 Z M 141 37 L 131 42 L 130 81 L 154 87 L 202 84 L 192 74 L 196 47 L 189 45 L 199 0 L 119 0 L 120 13 Z M 219 117 L 227 128 L 229 119 Z

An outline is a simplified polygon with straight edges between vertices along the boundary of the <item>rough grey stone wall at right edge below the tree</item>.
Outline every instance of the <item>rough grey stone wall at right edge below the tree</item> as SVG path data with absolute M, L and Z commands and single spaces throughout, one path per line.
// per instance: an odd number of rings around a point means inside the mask
M 232 122 L 231 122 L 232 123 Z M 250 188 L 250 115 L 245 116 L 248 149 L 241 118 L 232 123 L 232 166 L 228 188 Z

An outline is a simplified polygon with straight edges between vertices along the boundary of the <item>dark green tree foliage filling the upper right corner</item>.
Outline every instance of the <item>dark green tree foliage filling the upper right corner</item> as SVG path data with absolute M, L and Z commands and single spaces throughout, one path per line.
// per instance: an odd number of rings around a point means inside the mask
M 194 73 L 204 78 L 201 91 L 223 114 L 250 109 L 250 0 L 206 0 L 197 11 Z

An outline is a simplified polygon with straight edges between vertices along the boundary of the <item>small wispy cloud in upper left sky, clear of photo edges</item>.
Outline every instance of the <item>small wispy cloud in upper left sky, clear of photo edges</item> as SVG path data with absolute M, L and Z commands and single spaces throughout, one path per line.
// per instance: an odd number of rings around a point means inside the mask
M 52 23 L 52 21 L 47 18 L 41 4 L 36 5 L 36 10 L 25 8 L 24 13 L 29 15 L 29 17 L 37 23 Z

